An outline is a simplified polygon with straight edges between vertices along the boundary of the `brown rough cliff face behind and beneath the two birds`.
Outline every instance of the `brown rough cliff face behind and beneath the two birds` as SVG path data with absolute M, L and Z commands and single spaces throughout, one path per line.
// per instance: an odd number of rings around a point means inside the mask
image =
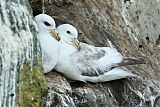
M 105 83 L 69 83 L 58 73 L 47 74 L 50 90 L 42 105 L 80 107 L 160 106 L 160 1 L 158 0 L 30 0 L 34 15 L 42 12 L 57 25 L 71 23 L 80 41 L 107 46 L 123 56 L 142 57 L 145 65 L 127 66 L 141 78 Z M 47 103 L 46 103 L 47 102 Z

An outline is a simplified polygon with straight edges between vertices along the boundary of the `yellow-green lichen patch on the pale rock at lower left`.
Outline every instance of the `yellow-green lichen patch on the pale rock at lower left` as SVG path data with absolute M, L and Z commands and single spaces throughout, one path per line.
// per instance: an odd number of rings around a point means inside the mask
M 18 106 L 39 107 L 41 97 L 47 89 L 42 65 L 31 68 L 30 63 L 25 63 L 19 76 Z

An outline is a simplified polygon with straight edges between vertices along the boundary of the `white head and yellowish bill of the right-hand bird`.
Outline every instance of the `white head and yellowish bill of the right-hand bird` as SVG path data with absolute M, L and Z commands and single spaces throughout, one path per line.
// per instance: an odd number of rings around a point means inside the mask
M 78 31 L 74 26 L 70 24 L 62 24 L 56 28 L 56 31 L 59 33 L 62 41 L 76 47 L 78 50 L 81 49 L 78 41 Z

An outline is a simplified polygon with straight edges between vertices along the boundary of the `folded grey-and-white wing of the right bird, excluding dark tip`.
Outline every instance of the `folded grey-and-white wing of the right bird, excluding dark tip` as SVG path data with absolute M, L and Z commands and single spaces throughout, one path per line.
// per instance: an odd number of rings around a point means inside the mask
M 109 47 L 94 47 L 85 43 L 80 43 L 81 50 L 74 53 L 73 59 L 76 66 L 83 75 L 98 76 L 104 74 L 104 72 L 110 70 L 114 58 L 121 57 L 121 55 L 115 49 Z M 112 53 L 109 51 L 112 50 Z M 116 59 L 117 60 L 117 59 Z M 119 59 L 118 59 L 119 60 Z M 120 61 L 118 61 L 119 63 Z

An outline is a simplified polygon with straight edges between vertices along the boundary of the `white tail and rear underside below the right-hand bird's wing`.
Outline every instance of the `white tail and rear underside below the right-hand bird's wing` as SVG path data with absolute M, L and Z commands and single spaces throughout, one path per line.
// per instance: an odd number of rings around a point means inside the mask
M 131 78 L 131 77 L 137 77 L 137 75 L 129 73 L 122 68 L 116 67 L 104 73 L 103 75 L 93 76 L 93 77 L 84 76 L 83 79 L 84 81 L 89 81 L 89 82 L 105 82 L 105 81 L 112 81 L 112 80 Z

